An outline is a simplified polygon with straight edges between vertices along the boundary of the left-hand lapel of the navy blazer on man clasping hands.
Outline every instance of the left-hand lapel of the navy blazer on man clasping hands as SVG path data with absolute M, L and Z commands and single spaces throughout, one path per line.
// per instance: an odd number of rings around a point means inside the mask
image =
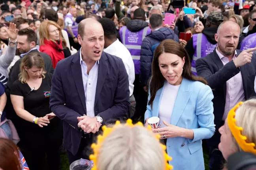
M 86 113 L 85 92 L 84 92 L 85 90 L 83 88 L 83 78 L 82 78 L 82 70 L 81 70 L 81 63 L 80 63 L 80 50 L 73 57 L 71 70 L 72 70 L 73 78 L 75 80 L 77 93 L 79 95 L 79 98 L 83 104 L 83 108 Z

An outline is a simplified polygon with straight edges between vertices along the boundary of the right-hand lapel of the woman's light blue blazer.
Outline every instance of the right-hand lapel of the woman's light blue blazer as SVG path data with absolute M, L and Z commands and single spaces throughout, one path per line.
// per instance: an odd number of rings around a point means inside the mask
M 179 121 L 179 118 L 181 117 L 191 94 L 192 92 L 189 91 L 189 80 L 183 78 L 174 103 L 173 112 L 171 114 L 170 123 L 172 125 L 177 125 L 177 122 Z

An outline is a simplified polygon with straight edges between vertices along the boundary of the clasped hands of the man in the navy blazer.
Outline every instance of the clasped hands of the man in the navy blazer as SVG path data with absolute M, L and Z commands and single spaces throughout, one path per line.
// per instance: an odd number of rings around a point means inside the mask
M 85 133 L 96 133 L 99 131 L 101 124 L 97 122 L 96 117 L 80 116 L 77 117 L 78 127 L 81 127 Z

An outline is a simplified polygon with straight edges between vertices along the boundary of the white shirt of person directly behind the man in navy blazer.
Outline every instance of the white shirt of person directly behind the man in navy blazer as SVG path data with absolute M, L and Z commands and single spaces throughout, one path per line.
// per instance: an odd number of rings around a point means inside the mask
M 128 74 L 128 78 L 129 78 L 130 96 L 132 96 L 133 90 L 134 90 L 133 83 L 135 79 L 135 71 L 134 71 L 134 62 L 132 60 L 132 56 L 130 52 L 127 50 L 124 44 L 122 44 L 118 39 L 115 42 L 113 42 L 110 46 L 105 48 L 104 52 L 111 55 L 115 55 L 122 59 L 124 63 L 124 67 Z

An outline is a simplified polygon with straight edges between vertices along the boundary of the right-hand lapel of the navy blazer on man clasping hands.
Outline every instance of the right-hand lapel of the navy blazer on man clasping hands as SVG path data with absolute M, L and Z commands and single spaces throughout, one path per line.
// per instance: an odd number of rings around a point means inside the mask
M 102 52 L 102 56 L 99 61 L 99 70 L 98 70 L 98 79 L 97 79 L 97 87 L 96 87 L 96 93 L 95 93 L 95 101 L 94 106 L 96 106 L 98 98 L 100 97 L 100 92 L 102 90 L 102 87 L 104 85 L 105 78 L 107 77 L 107 56 L 105 52 Z

